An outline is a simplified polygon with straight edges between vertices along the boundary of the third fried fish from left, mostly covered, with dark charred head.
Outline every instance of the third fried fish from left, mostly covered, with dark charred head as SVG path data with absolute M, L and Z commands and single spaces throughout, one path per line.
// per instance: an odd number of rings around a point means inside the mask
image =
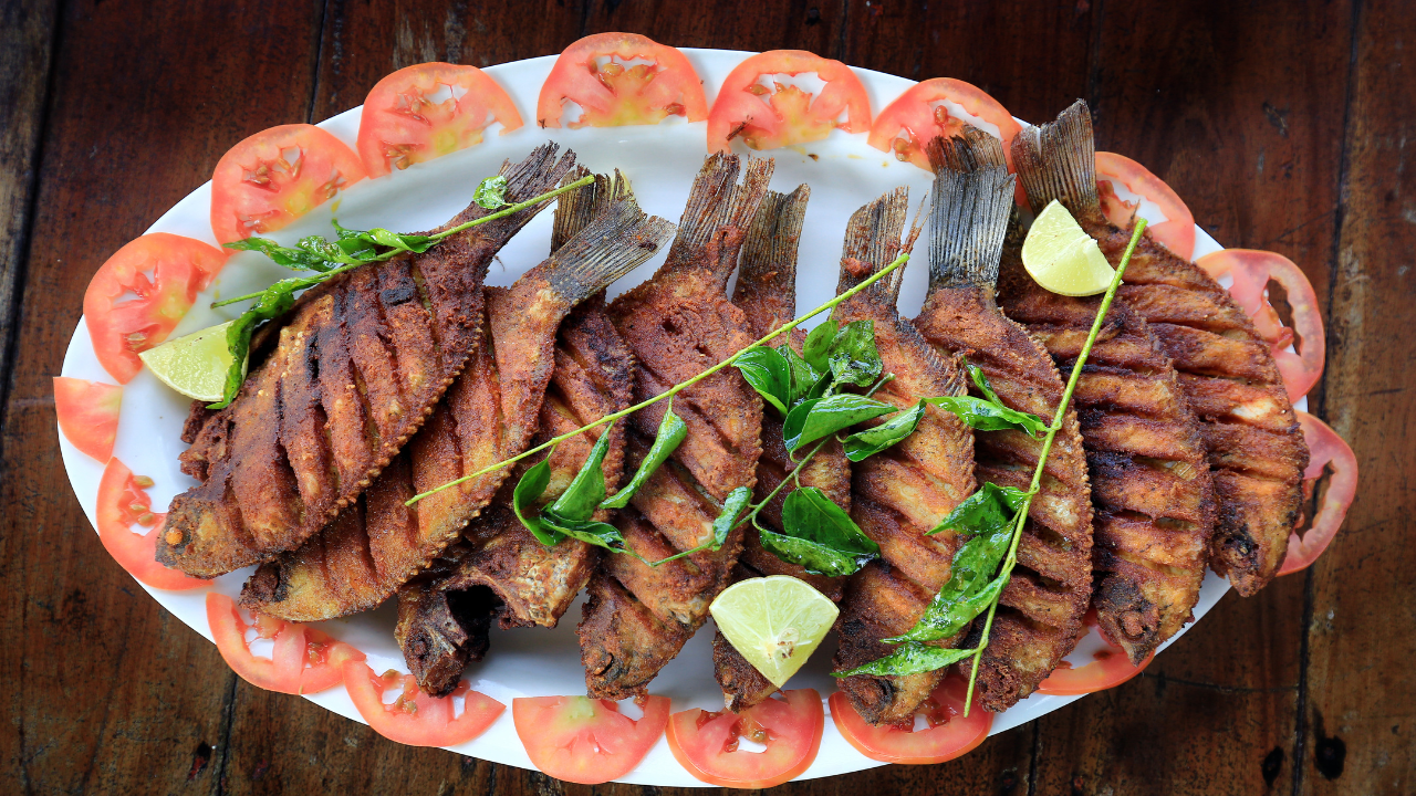
M 603 205 L 627 193 L 624 180 L 599 177 L 595 186 L 566 194 L 555 211 L 552 252 L 575 237 Z M 592 296 L 561 322 L 555 370 L 541 404 L 535 445 L 568 433 L 630 405 L 634 358 L 605 314 L 603 295 Z M 569 486 L 605 428 L 561 442 L 551 455 L 551 483 L 545 500 Z M 610 493 L 624 465 L 624 431 L 610 428 L 605 455 L 605 483 Z M 487 510 L 472 521 L 463 538 L 432 567 L 398 591 L 395 637 L 409 671 L 429 694 L 457 686 L 467 661 L 489 647 L 491 620 L 503 627 L 554 627 L 599 561 L 599 548 L 576 540 L 545 547 L 511 511 L 511 487 L 532 456 L 501 484 Z M 605 521 L 607 517 L 598 517 Z

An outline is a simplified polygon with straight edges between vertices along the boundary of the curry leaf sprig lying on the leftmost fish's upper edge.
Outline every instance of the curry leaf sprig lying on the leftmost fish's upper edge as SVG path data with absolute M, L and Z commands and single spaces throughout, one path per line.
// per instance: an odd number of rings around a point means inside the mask
M 525 201 L 508 204 L 506 200 L 507 178 L 497 174 L 483 180 L 473 193 L 473 200 L 486 210 L 496 210 L 432 235 L 404 235 L 382 228 L 347 229 L 334 222 L 334 241 L 320 235 L 300 238 L 295 246 L 282 246 L 268 238 L 245 238 L 225 244 L 228 249 L 261 252 L 272 262 L 292 271 L 313 271 L 309 276 L 292 276 L 280 279 L 265 290 L 248 293 L 234 299 L 214 302 L 212 307 L 234 305 L 236 302 L 255 300 L 246 312 L 227 327 L 227 348 L 231 351 L 231 365 L 227 370 L 221 401 L 210 404 L 210 409 L 221 409 L 231 404 L 241 391 L 241 384 L 246 378 L 246 357 L 251 353 L 251 334 L 262 320 L 272 320 L 285 314 L 293 305 L 296 293 L 306 288 L 313 288 L 327 279 L 371 262 L 392 259 L 404 252 L 422 254 L 433 245 L 463 232 L 479 224 L 486 224 L 497 218 L 504 218 L 520 212 L 528 207 L 541 204 L 566 191 L 576 190 L 595 181 L 593 176 L 585 176 L 573 183 L 566 183 L 555 190 Z

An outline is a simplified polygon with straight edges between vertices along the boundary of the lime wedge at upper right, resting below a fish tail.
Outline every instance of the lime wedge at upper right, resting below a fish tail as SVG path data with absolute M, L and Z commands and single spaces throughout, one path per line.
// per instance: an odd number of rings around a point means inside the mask
M 1028 229 L 1022 266 L 1038 285 L 1063 296 L 1104 293 L 1116 276 L 1096 241 L 1056 200 L 1042 208 Z

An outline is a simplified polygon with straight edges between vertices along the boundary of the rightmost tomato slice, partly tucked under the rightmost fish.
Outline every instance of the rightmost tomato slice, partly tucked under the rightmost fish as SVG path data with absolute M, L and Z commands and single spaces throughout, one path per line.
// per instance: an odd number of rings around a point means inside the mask
M 1280 575 L 1307 569 L 1323 555 L 1342 527 L 1347 507 L 1357 497 L 1357 455 L 1348 443 L 1331 426 L 1307 412 L 1298 412 L 1298 425 L 1303 426 L 1303 439 L 1307 440 L 1311 456 L 1308 469 L 1303 473 L 1304 494 L 1311 496 L 1318 479 L 1328 470 L 1331 477 L 1313 525 L 1301 537 L 1297 531 L 1289 537 L 1289 552 L 1283 558 Z

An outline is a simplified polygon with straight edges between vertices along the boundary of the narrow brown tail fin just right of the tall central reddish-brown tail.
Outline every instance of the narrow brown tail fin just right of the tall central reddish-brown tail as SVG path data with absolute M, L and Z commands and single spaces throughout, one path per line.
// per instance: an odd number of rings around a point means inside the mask
M 741 306 L 753 300 L 749 293 L 756 293 L 792 313 L 796 306 L 797 246 L 810 198 L 811 187 L 804 183 L 790 194 L 766 193 L 742 242 L 733 303 Z

